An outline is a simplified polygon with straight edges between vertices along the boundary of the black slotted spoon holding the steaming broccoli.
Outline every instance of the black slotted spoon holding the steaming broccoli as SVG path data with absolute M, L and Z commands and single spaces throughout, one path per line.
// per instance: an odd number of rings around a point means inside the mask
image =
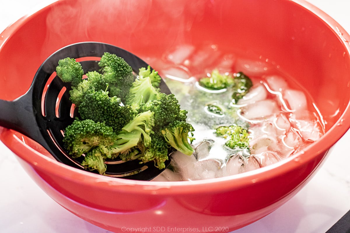
M 98 61 L 105 52 L 124 58 L 134 73 L 138 73 L 139 68 L 148 66 L 134 54 L 110 44 L 82 42 L 68 45 L 43 62 L 26 94 L 13 101 L 0 100 L 0 125 L 18 131 L 41 144 L 57 161 L 85 169 L 80 165 L 83 156 L 73 159 L 62 141 L 64 129 L 74 121 L 78 113 L 69 100 L 70 83 L 64 83 L 56 76 L 56 67 L 60 59 L 70 57 L 82 64 L 84 73 L 98 70 Z M 171 93 L 163 80 L 160 89 L 163 93 Z M 171 152 L 169 149 L 168 155 Z M 163 171 L 156 168 L 153 161 L 142 164 L 139 161 L 106 161 L 106 175 L 133 180 L 152 180 Z M 166 167 L 169 163 L 170 156 Z

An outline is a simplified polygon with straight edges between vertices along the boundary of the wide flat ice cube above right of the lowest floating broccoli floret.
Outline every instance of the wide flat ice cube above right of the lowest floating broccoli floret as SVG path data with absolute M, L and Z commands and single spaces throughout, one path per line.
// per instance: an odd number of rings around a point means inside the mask
M 241 108 L 241 115 L 248 120 L 264 119 L 277 112 L 274 100 L 261 100 Z

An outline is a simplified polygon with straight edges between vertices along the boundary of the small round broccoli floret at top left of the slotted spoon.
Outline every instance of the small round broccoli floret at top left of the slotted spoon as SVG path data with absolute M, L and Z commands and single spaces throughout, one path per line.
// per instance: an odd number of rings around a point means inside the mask
M 71 82 L 72 86 L 77 86 L 83 81 L 83 68 L 74 58 L 64 58 L 58 61 L 56 74 L 63 82 Z

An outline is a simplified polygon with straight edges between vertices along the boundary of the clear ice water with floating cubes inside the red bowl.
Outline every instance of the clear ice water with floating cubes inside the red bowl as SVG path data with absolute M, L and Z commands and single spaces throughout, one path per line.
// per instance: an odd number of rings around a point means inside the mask
M 195 49 L 183 45 L 158 61 L 159 73 L 175 94 L 188 123 L 195 128 L 195 152 L 174 152 L 168 169 L 155 181 L 211 179 L 235 175 L 277 163 L 312 144 L 324 133 L 322 117 L 303 88 L 267 61 L 223 53 L 216 45 Z M 214 69 L 221 73 L 243 72 L 253 87 L 237 104 L 225 90 L 208 91 L 198 79 Z M 208 112 L 208 104 L 220 105 L 225 114 Z M 216 137 L 219 125 L 241 125 L 249 130 L 250 153 L 233 151 Z

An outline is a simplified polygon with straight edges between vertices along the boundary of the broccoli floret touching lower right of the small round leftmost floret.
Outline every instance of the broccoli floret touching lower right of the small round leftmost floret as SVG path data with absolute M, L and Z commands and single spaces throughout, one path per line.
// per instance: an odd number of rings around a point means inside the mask
M 86 77 L 87 79 L 84 79 L 69 91 L 69 99 L 76 107 L 82 103 L 87 93 L 94 92 L 95 90 L 105 90 L 107 88 L 106 81 L 102 77 L 102 74 L 92 71 L 88 72 Z

